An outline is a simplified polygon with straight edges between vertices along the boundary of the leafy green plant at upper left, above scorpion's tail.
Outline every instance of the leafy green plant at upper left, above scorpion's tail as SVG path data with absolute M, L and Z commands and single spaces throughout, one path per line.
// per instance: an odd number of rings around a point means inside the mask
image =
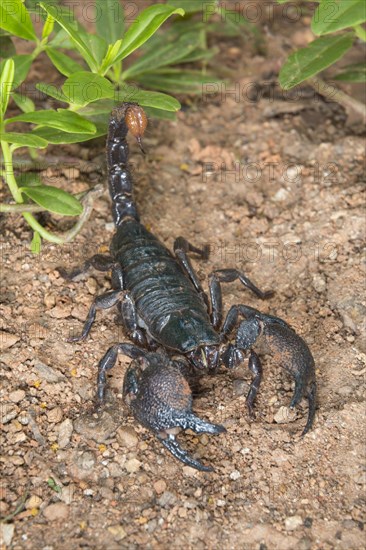
M 152 5 L 125 29 L 119 0 L 95 0 L 97 34 L 92 34 L 57 0 L 39 3 L 5 0 L 0 4 L 0 46 L 5 57 L 0 64 L 2 176 L 15 201 L 15 204 L 1 204 L 0 212 L 22 213 L 34 231 L 32 250 L 39 250 L 41 238 L 55 243 L 74 238 L 88 219 L 92 200 L 100 190 L 93 190 L 80 202 L 80 197 L 42 185 L 37 174 L 31 174 L 23 185 L 14 174 L 14 151 L 28 147 L 31 156 L 35 157 L 37 149 L 49 144 L 79 143 L 102 136 L 107 131 L 108 114 L 122 101 L 138 102 L 149 115 L 174 116 L 180 108 L 175 98 L 160 91 L 142 90 L 130 82 L 167 92 L 200 92 L 202 84 L 212 81 L 212 76 L 174 65 L 205 62 L 215 55 L 216 49 L 207 47 L 208 32 L 237 34 L 246 28 L 255 33 L 255 28 L 243 17 L 233 16 L 220 7 L 217 0 L 204 3 L 207 21 L 192 20 L 202 6 L 195 0 L 171 0 L 165 5 Z M 32 13 L 43 15 L 40 37 L 34 30 Z M 212 20 L 216 13 L 225 21 L 224 25 Z M 175 21 L 164 33 L 156 34 L 172 15 L 183 19 Z M 12 41 L 14 36 L 34 42 L 33 52 L 17 55 Z M 140 58 L 131 63 L 129 56 L 147 41 Z M 73 57 L 65 53 L 69 51 L 74 52 Z M 37 84 L 40 92 L 65 105 L 56 110 L 37 110 L 31 97 L 19 93 L 32 62 L 42 52 L 65 77 L 61 87 L 46 82 Z M 6 117 L 9 101 L 14 101 L 23 114 Z M 9 125 L 14 123 L 34 126 L 27 133 L 9 131 Z M 45 210 L 78 216 L 78 221 L 67 233 L 54 234 L 34 216 Z

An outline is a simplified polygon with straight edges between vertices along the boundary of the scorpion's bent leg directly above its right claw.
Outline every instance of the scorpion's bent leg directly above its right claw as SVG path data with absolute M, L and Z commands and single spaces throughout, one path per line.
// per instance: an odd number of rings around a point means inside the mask
M 221 283 L 232 283 L 237 279 L 261 300 L 273 296 L 272 290 L 265 292 L 260 290 L 243 272 L 237 269 L 218 269 L 214 271 L 209 276 L 209 289 L 212 303 L 212 324 L 216 329 L 220 326 L 222 320 Z

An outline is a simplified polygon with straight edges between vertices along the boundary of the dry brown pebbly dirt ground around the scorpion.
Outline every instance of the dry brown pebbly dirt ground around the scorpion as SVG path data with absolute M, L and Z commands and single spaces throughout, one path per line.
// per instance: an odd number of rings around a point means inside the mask
M 307 32 L 300 22 L 300 44 Z M 93 414 L 96 365 L 124 336 L 105 311 L 87 341 L 66 342 L 110 280 L 93 272 L 65 282 L 57 266 L 108 247 L 109 198 L 72 245 L 46 245 L 39 256 L 28 251 L 25 222 L 3 218 L 1 513 L 12 518 L 1 525 L 2 548 L 365 547 L 364 141 L 340 107 L 312 93 L 288 101 L 261 88 L 259 101 L 248 99 L 248 83 L 266 80 L 288 51 L 278 33 L 266 40 L 266 56 L 248 45 L 245 57 L 235 39 L 220 42 L 239 93 L 194 100 L 176 122 L 151 121 L 146 158 L 131 144 L 131 160 L 144 223 L 169 247 L 178 235 L 211 245 L 210 259 L 195 262 L 204 285 L 213 269 L 235 266 L 276 290 L 260 303 L 227 284 L 225 308 L 278 315 L 307 341 L 314 429 L 300 437 L 306 402 L 281 420 L 292 381 L 268 356 L 255 420 L 246 365 L 202 380 L 194 410 L 227 433 L 181 441 L 214 473 L 184 467 L 128 414 L 123 357 L 104 413 Z M 51 149 L 45 181 L 72 192 L 95 185 L 103 147 Z

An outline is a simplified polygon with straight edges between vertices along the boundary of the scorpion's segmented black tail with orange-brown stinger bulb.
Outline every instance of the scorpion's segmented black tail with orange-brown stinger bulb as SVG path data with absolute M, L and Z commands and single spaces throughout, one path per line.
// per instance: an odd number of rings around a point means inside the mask
M 136 138 L 142 152 L 141 138 L 147 118 L 136 103 L 122 103 L 114 109 L 109 120 L 107 138 L 107 163 L 109 192 L 113 203 L 113 219 L 119 226 L 126 218 L 139 219 L 132 197 L 133 179 L 128 167 L 128 131 Z

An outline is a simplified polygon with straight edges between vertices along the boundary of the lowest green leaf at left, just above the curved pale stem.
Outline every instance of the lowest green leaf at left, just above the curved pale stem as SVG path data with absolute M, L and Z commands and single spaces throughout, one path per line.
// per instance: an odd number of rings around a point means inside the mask
M 43 206 L 50 212 L 63 216 L 79 216 L 83 207 L 70 193 L 51 185 L 37 185 L 36 187 L 20 187 L 20 191 L 32 201 Z

